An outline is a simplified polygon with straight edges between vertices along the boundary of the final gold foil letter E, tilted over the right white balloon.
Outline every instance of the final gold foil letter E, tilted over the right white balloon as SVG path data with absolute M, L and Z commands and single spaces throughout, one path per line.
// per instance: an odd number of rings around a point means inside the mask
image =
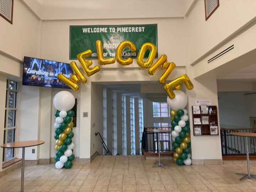
M 164 90 L 170 98 L 175 97 L 175 94 L 172 91 L 172 88 L 175 87 L 176 90 L 180 90 L 181 89 L 180 84 L 182 82 L 186 85 L 187 89 L 189 89 L 189 90 L 193 89 L 193 84 L 190 81 L 190 79 L 188 78 L 188 76 L 186 74 L 181 75 L 180 77 L 178 77 L 164 85 Z

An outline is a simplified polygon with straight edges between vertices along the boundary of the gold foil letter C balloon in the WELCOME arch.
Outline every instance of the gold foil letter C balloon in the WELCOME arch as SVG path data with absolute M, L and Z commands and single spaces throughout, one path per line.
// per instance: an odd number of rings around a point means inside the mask
M 132 58 L 128 58 L 126 60 L 123 59 L 122 57 L 122 52 L 124 50 L 124 48 L 129 47 L 131 52 L 135 52 L 136 51 L 136 46 L 130 42 L 130 41 L 123 41 L 121 42 L 116 50 L 116 60 L 117 63 L 121 64 L 121 65 L 129 65 L 133 62 Z

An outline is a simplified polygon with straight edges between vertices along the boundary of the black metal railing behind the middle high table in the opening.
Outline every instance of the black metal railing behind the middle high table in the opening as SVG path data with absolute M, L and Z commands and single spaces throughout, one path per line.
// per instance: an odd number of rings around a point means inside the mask
M 157 133 L 147 132 L 147 129 L 168 129 L 171 130 L 171 127 L 144 127 L 143 136 L 142 136 L 142 151 L 145 149 L 148 152 L 157 152 L 158 151 L 158 139 L 160 139 L 160 151 L 173 151 L 172 148 L 172 138 L 171 132 L 169 133 L 160 133 L 158 138 Z

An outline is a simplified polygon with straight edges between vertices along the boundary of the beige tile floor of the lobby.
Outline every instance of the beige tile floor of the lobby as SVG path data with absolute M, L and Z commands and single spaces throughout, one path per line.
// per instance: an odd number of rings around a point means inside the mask
M 144 156 L 97 156 L 90 164 L 74 163 L 71 169 L 55 164 L 25 166 L 24 191 L 256 191 L 256 180 L 244 179 L 246 161 L 223 165 L 182 165 L 172 160 L 151 168 L 156 159 Z M 238 161 L 239 162 L 239 161 Z M 256 174 L 256 163 L 250 164 Z M 0 178 L 0 191 L 20 191 L 21 168 Z

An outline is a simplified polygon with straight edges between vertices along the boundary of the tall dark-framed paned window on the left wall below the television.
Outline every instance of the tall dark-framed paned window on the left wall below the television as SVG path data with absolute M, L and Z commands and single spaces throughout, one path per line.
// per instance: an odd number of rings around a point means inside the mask
M 5 98 L 4 143 L 15 142 L 18 83 L 7 80 Z M 14 148 L 3 149 L 2 161 L 14 158 Z

